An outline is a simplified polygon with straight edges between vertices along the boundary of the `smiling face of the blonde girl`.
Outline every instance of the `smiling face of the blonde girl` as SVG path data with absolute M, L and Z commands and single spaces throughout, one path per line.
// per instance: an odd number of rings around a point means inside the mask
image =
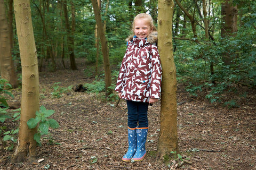
M 134 34 L 139 39 L 145 39 L 153 31 L 147 19 L 140 18 L 134 21 Z

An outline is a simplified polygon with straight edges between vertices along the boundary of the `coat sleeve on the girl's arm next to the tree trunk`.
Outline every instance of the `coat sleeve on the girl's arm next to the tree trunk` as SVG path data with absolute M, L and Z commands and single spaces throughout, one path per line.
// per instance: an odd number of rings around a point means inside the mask
M 161 97 L 162 66 L 156 45 L 152 45 L 151 57 L 151 78 L 150 78 L 150 98 L 159 99 Z

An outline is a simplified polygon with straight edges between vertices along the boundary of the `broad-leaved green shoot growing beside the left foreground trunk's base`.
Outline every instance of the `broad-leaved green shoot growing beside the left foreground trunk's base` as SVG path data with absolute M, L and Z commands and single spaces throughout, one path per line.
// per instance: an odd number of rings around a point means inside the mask
M 36 111 L 36 117 L 30 118 L 27 122 L 28 128 L 33 129 L 37 128 L 37 133 L 34 135 L 34 139 L 38 143 L 38 145 L 42 145 L 41 136 L 43 134 L 48 134 L 49 128 L 59 128 L 59 124 L 53 118 L 48 119 L 47 117 L 54 114 L 55 111 L 47 110 L 44 106 L 41 106 L 39 112 Z

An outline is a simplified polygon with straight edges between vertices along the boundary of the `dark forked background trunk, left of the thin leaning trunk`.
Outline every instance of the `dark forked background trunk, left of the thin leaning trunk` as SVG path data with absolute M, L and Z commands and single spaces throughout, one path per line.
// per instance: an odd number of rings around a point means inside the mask
M 68 35 L 68 53 L 70 59 L 70 67 L 71 70 L 77 70 L 76 61 L 75 61 L 75 54 L 74 54 L 74 32 L 75 32 L 75 6 L 73 1 L 71 1 L 71 14 L 72 14 L 72 21 L 71 21 L 71 31 L 68 21 L 68 9 L 67 9 L 67 1 L 63 1 L 63 10 L 64 10 L 64 17 L 66 22 L 66 30 Z

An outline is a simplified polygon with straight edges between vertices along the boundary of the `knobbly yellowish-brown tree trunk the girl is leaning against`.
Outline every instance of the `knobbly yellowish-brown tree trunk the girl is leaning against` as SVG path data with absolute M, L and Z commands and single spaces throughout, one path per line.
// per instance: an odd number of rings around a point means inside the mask
M 173 0 L 158 0 L 158 50 L 162 63 L 161 124 L 157 145 L 157 158 L 162 161 L 178 152 L 177 133 L 177 81 L 172 50 Z

